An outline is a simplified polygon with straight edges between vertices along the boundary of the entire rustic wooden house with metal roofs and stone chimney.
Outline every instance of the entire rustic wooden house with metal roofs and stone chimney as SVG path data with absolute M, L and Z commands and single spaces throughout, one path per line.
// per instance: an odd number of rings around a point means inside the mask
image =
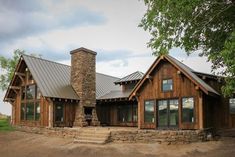
M 95 72 L 96 52 L 70 53 L 71 67 L 21 56 L 4 97 L 12 104 L 13 125 L 235 127 L 235 98 L 221 94 L 223 77 L 196 72 L 164 55 L 145 74 L 117 78 Z

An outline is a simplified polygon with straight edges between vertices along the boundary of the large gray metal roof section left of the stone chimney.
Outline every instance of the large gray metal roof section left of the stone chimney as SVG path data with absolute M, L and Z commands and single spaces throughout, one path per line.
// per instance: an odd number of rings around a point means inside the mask
M 28 55 L 23 60 L 44 97 L 79 99 L 70 84 L 69 66 Z

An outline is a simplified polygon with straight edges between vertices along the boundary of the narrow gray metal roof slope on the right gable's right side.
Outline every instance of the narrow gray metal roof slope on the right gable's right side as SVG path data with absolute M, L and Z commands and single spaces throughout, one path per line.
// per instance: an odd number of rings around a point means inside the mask
M 186 73 L 188 73 L 195 81 L 197 81 L 201 86 L 203 86 L 207 91 L 212 92 L 214 94 L 220 95 L 217 91 L 215 91 L 211 86 L 209 86 L 206 82 L 200 79 L 196 74 L 194 74 L 194 70 L 189 68 L 187 65 L 181 63 L 177 59 L 171 57 L 170 55 L 166 55 L 168 59 L 177 64 L 181 69 L 183 69 Z

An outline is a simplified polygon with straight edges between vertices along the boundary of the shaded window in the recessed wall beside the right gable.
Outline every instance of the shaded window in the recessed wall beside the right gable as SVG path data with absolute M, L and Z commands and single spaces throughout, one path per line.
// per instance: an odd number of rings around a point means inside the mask
M 137 122 L 137 105 L 119 105 L 118 106 L 118 121 L 122 123 Z

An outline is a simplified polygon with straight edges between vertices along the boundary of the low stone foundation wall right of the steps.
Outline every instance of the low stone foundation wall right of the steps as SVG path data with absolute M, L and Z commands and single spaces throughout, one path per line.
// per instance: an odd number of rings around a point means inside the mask
M 191 143 L 206 141 L 207 132 L 203 130 L 138 130 L 138 131 L 112 131 L 113 142 L 139 142 L 139 143 Z

